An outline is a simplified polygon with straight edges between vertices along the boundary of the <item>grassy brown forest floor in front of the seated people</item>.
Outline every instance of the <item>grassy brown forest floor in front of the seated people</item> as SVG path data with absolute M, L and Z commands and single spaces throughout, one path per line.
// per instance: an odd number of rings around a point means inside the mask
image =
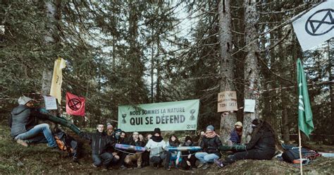
M 318 146 L 320 151 L 334 152 L 334 146 Z M 299 167 L 292 164 L 272 160 L 241 160 L 218 169 L 183 171 L 163 168 L 152 169 L 109 169 L 102 171 L 92 167 L 90 148 L 87 142 L 82 147 L 86 156 L 80 163 L 73 162 L 66 152 L 51 149 L 47 144 L 23 147 L 13 142 L 8 126 L 0 125 L 0 174 L 298 174 Z M 304 166 L 305 174 L 334 174 L 334 158 L 318 157 L 309 165 Z

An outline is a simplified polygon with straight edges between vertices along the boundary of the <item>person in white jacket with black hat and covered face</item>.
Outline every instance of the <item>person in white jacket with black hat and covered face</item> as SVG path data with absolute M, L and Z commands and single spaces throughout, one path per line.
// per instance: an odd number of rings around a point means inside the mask
M 166 143 L 161 137 L 160 128 L 154 128 L 154 135 L 147 142 L 145 147 L 147 151 L 149 151 L 149 161 L 153 163 L 153 168 L 158 169 L 163 159 L 166 158 L 166 154 L 163 154 Z M 165 168 L 167 169 L 168 167 Z

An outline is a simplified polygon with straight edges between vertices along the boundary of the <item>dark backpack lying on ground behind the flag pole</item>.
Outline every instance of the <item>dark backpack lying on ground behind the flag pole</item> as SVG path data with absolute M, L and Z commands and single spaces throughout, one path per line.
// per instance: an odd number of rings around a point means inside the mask
M 282 154 L 282 158 L 285 162 L 292 163 L 293 160 L 299 159 L 299 147 L 284 147 L 285 151 Z M 314 150 L 308 150 L 302 147 L 302 159 L 316 159 L 316 157 L 320 156 L 318 152 Z

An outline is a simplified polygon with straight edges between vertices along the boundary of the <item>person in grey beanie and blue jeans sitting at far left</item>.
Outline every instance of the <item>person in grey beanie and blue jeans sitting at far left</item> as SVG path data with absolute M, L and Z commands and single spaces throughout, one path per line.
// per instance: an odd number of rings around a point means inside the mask
M 47 115 L 35 109 L 32 99 L 29 97 L 20 97 L 18 104 L 18 107 L 11 111 L 11 117 L 8 121 L 11 127 L 11 136 L 14 140 L 20 145 L 27 147 L 28 143 L 39 143 L 47 139 L 48 147 L 58 147 L 49 124 L 37 124 L 37 119 L 47 119 Z M 44 137 L 41 137 L 40 134 L 43 134 Z

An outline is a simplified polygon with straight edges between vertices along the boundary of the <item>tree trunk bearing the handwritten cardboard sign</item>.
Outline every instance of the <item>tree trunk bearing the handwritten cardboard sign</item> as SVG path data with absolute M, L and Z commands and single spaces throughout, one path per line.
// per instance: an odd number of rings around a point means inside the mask
M 221 50 L 221 92 L 235 91 L 235 61 L 230 52 L 232 51 L 231 14 L 230 0 L 221 0 L 218 6 L 219 12 L 219 42 Z M 227 144 L 230 139 L 230 131 L 237 121 L 237 113 L 230 113 L 227 116 L 221 115 L 221 141 Z

